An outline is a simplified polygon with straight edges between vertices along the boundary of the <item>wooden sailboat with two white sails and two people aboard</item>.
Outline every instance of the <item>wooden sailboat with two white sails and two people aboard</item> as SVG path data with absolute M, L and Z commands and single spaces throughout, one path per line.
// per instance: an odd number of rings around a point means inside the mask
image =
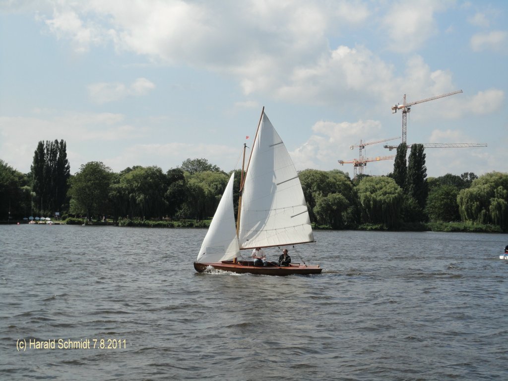
M 245 162 L 246 144 L 243 149 Z M 290 266 L 278 266 L 276 262 L 255 266 L 240 254 L 240 250 L 257 247 L 315 242 L 295 165 L 264 108 L 245 170 L 242 164 L 236 225 L 233 181 L 234 173 L 194 262 L 196 271 L 213 268 L 257 275 L 320 274 L 323 269 L 319 265 L 307 265 L 303 260 Z

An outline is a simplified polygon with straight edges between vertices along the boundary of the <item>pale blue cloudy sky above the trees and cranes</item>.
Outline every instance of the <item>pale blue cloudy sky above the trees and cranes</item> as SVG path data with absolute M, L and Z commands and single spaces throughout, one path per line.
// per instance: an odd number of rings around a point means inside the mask
M 487 144 L 425 149 L 429 177 L 508 172 L 507 58 L 505 0 L 0 0 L 0 160 L 27 173 L 39 141 L 63 139 L 72 174 L 229 172 L 265 107 L 297 170 L 353 177 L 338 160 L 361 141 L 395 154 L 404 94 L 462 90 L 412 106 L 407 143 Z

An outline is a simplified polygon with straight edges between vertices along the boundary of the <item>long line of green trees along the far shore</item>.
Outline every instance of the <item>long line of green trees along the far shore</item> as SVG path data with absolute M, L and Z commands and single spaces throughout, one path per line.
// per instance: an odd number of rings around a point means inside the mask
M 387 176 L 352 180 L 339 170 L 301 171 L 311 222 L 329 229 L 428 229 L 430 224 L 439 230 L 508 231 L 508 174 L 427 178 L 423 145 L 412 145 L 406 156 L 407 146 L 400 144 Z M 32 215 L 45 216 L 60 211 L 63 218 L 106 216 L 120 225 L 209 220 L 230 174 L 204 158 L 189 158 L 167 172 L 135 166 L 115 173 L 90 162 L 70 175 L 65 142 L 40 142 L 28 174 L 0 161 L 0 219 L 7 219 L 8 210 L 15 219 L 33 210 Z

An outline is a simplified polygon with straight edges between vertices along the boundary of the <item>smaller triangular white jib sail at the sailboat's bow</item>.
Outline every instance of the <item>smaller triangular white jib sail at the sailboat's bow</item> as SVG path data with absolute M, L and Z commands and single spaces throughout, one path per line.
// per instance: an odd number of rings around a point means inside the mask
M 235 174 L 233 173 L 203 240 L 197 262 L 226 261 L 238 257 L 240 254 L 238 238 L 236 236 L 235 209 L 233 206 L 234 177 Z

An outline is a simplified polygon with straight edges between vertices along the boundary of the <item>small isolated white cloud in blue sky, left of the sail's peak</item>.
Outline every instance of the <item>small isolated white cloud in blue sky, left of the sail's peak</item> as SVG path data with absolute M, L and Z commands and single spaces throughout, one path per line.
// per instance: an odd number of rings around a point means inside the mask
M 98 82 L 88 85 L 88 96 L 93 103 L 104 104 L 129 96 L 144 96 L 153 88 L 155 85 L 146 78 L 138 78 L 130 86 L 120 82 Z

